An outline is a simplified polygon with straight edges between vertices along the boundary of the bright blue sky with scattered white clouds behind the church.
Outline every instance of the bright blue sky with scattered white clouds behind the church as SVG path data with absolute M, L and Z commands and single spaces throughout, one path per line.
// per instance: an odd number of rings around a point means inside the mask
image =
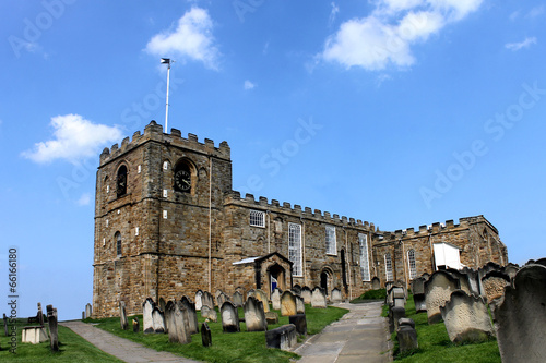
M 161 58 L 168 129 L 227 141 L 241 194 L 387 231 L 484 215 L 511 262 L 546 256 L 543 1 L 4 0 L 0 24 L 19 316 L 92 302 L 98 155 L 165 125 Z

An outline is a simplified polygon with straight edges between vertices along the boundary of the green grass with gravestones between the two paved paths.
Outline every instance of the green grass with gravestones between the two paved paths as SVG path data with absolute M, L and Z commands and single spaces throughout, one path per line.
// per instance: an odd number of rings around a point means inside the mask
M 239 308 L 241 315 L 242 308 Z M 282 325 L 288 324 L 287 316 L 278 314 L 278 324 L 270 325 L 268 328 L 274 329 Z M 306 305 L 307 330 L 309 334 L 321 331 L 327 325 L 340 319 L 348 311 L 329 306 L 328 308 L 313 308 Z M 209 323 L 212 334 L 212 347 L 205 348 L 201 343 L 201 334 L 193 335 L 192 341 L 189 344 L 169 343 L 168 335 L 166 334 L 143 334 L 142 332 L 142 315 L 136 316 L 141 323 L 141 331 L 133 332 L 132 330 L 121 330 L 119 327 L 119 318 L 104 319 L 86 319 L 86 323 L 99 323 L 98 328 L 110 331 L 119 337 L 130 339 L 145 347 L 158 350 L 168 351 L 175 354 L 183 355 L 194 360 L 206 362 L 290 362 L 290 359 L 298 359 L 299 355 L 278 349 L 268 349 L 265 347 L 265 332 L 247 332 L 245 323 L 240 323 L 240 332 L 223 332 L 222 322 L 218 314 L 217 323 Z M 204 319 L 198 313 L 199 323 Z M 131 322 L 133 316 L 129 317 Z

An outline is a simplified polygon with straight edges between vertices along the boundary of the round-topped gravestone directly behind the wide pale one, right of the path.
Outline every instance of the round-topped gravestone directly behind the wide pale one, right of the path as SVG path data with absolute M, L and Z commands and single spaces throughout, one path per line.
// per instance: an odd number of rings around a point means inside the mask
M 460 288 L 459 279 L 439 270 L 425 282 L 425 302 L 427 304 L 428 324 L 441 322 L 440 306 L 451 299 L 451 293 Z

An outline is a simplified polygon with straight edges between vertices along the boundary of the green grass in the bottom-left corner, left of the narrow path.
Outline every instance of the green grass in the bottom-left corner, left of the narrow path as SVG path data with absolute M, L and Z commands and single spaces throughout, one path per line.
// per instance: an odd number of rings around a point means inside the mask
M 122 362 L 87 342 L 85 339 L 66 328 L 59 326 L 59 352 L 51 352 L 49 340 L 39 344 L 22 343 L 21 327 L 27 326 L 25 320 L 19 319 L 16 353 L 10 352 L 10 337 L 0 336 L 0 362 Z M 11 328 L 11 325 L 9 325 Z M 47 325 L 46 325 L 47 330 Z

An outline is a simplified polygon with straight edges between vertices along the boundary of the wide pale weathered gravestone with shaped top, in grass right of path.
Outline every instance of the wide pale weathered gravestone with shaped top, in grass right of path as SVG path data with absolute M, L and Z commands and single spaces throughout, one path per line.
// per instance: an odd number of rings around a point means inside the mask
M 455 290 L 440 306 L 449 339 L 454 343 L 480 342 L 494 336 L 487 305 L 482 297 Z

